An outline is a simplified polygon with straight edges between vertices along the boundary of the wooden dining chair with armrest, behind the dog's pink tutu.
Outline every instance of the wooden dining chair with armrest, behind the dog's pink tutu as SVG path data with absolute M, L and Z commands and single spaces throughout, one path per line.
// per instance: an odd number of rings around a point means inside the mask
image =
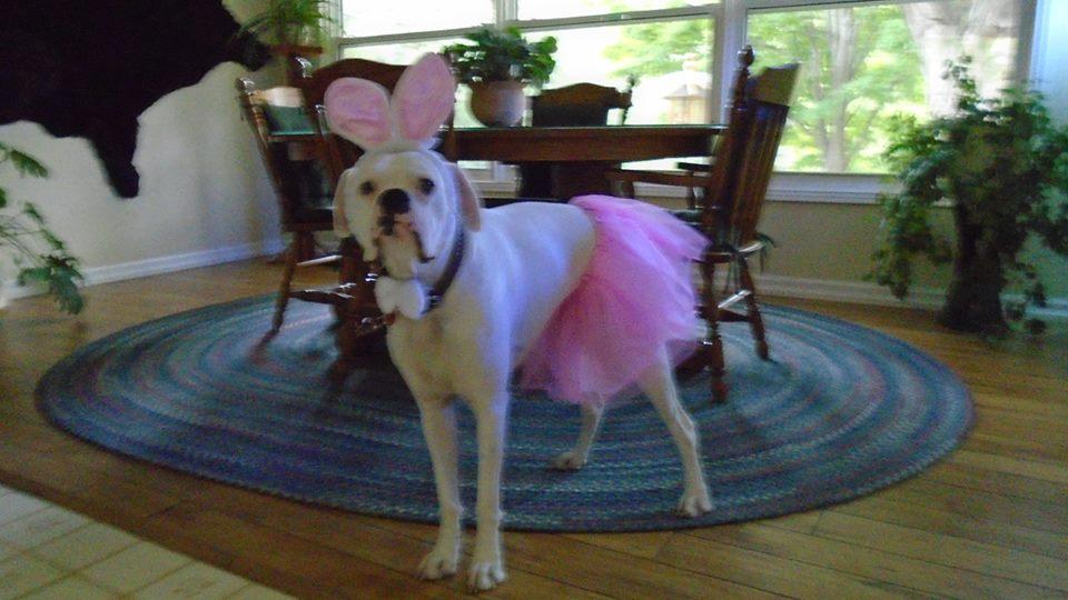
M 769 358 L 756 288 L 749 271 L 749 258 L 763 249 L 756 223 L 790 110 L 799 66 L 773 67 L 750 77 L 753 59 L 750 46 L 739 52 L 730 118 L 722 140 L 716 144 L 715 156 L 711 157 L 711 170 L 615 170 L 609 176 L 611 180 L 622 183 L 623 194 L 631 198 L 634 197 L 634 183 L 637 181 L 694 188 L 702 192 L 700 210 L 690 217 L 711 241 L 701 259 L 700 269 L 700 311 L 708 323 L 708 333 L 690 363 L 710 368 L 712 397 L 716 402 L 725 400 L 728 392 L 723 381 L 721 322 L 748 322 L 755 340 L 756 354 L 764 360 Z M 715 281 L 720 266 L 728 267 L 722 293 L 716 291 Z M 740 303 L 744 308 L 735 309 Z

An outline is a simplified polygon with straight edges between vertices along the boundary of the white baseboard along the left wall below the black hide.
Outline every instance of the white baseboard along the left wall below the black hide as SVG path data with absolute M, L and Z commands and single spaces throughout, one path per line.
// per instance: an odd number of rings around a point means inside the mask
M 82 269 L 81 273 L 86 278 L 86 286 L 97 286 L 99 283 L 110 283 L 112 281 L 122 281 L 126 279 L 137 279 L 164 273 L 184 271 L 186 269 L 197 269 L 199 267 L 210 267 L 224 262 L 234 262 L 255 257 L 276 254 L 285 249 L 285 242 L 280 238 L 265 240 L 263 242 L 243 243 L 238 246 L 228 246 L 225 248 L 214 248 L 211 250 L 201 250 L 199 252 L 188 252 L 185 254 L 172 254 L 169 257 L 157 257 L 145 260 L 135 260 L 130 262 L 120 262 L 118 264 L 106 264 L 102 267 L 90 267 Z M 0 282 L 2 284 L 2 282 Z M 7 298 L 24 298 L 43 293 L 42 289 L 34 286 L 13 286 L 9 284 Z

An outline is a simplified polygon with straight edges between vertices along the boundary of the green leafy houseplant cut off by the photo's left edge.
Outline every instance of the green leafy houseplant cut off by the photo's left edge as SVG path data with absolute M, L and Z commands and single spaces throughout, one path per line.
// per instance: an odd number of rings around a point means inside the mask
M 36 159 L 0 143 L 0 170 L 8 168 L 23 177 L 48 177 L 48 170 Z M 37 207 L 20 202 L 9 210 L 9 206 L 8 192 L 0 188 L 0 250 L 18 269 L 18 284 L 43 286 L 59 302 L 60 310 L 81 312 L 86 302 L 78 291 L 78 282 L 82 281 L 78 259 L 48 229 Z

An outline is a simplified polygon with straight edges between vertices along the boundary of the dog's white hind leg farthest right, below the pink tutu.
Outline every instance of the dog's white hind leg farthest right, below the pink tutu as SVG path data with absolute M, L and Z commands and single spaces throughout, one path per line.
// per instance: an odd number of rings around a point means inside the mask
M 682 498 L 679 500 L 679 514 L 696 517 L 712 510 L 709 488 L 704 482 L 704 471 L 701 468 L 698 428 L 679 402 L 679 388 L 675 386 L 671 364 L 666 360 L 666 354 L 662 356 L 662 360 L 639 380 L 639 387 L 656 407 L 682 458 L 685 483 Z

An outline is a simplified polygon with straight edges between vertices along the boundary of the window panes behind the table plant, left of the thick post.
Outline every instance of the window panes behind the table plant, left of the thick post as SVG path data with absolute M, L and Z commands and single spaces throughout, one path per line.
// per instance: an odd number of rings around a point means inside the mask
M 550 88 L 591 81 L 624 89 L 633 79 L 634 107 L 627 122 L 710 118 L 713 20 L 706 0 L 464 0 L 449 3 L 448 11 L 441 9 L 439 0 L 365 6 L 353 0 L 342 4 L 343 57 L 412 62 L 482 23 L 508 22 L 532 39 L 557 38 Z M 454 8 L 456 14 L 445 20 L 427 17 Z M 517 13 L 518 20 L 497 18 L 507 13 Z M 465 102 L 458 107 L 461 127 L 477 124 L 464 114 Z

